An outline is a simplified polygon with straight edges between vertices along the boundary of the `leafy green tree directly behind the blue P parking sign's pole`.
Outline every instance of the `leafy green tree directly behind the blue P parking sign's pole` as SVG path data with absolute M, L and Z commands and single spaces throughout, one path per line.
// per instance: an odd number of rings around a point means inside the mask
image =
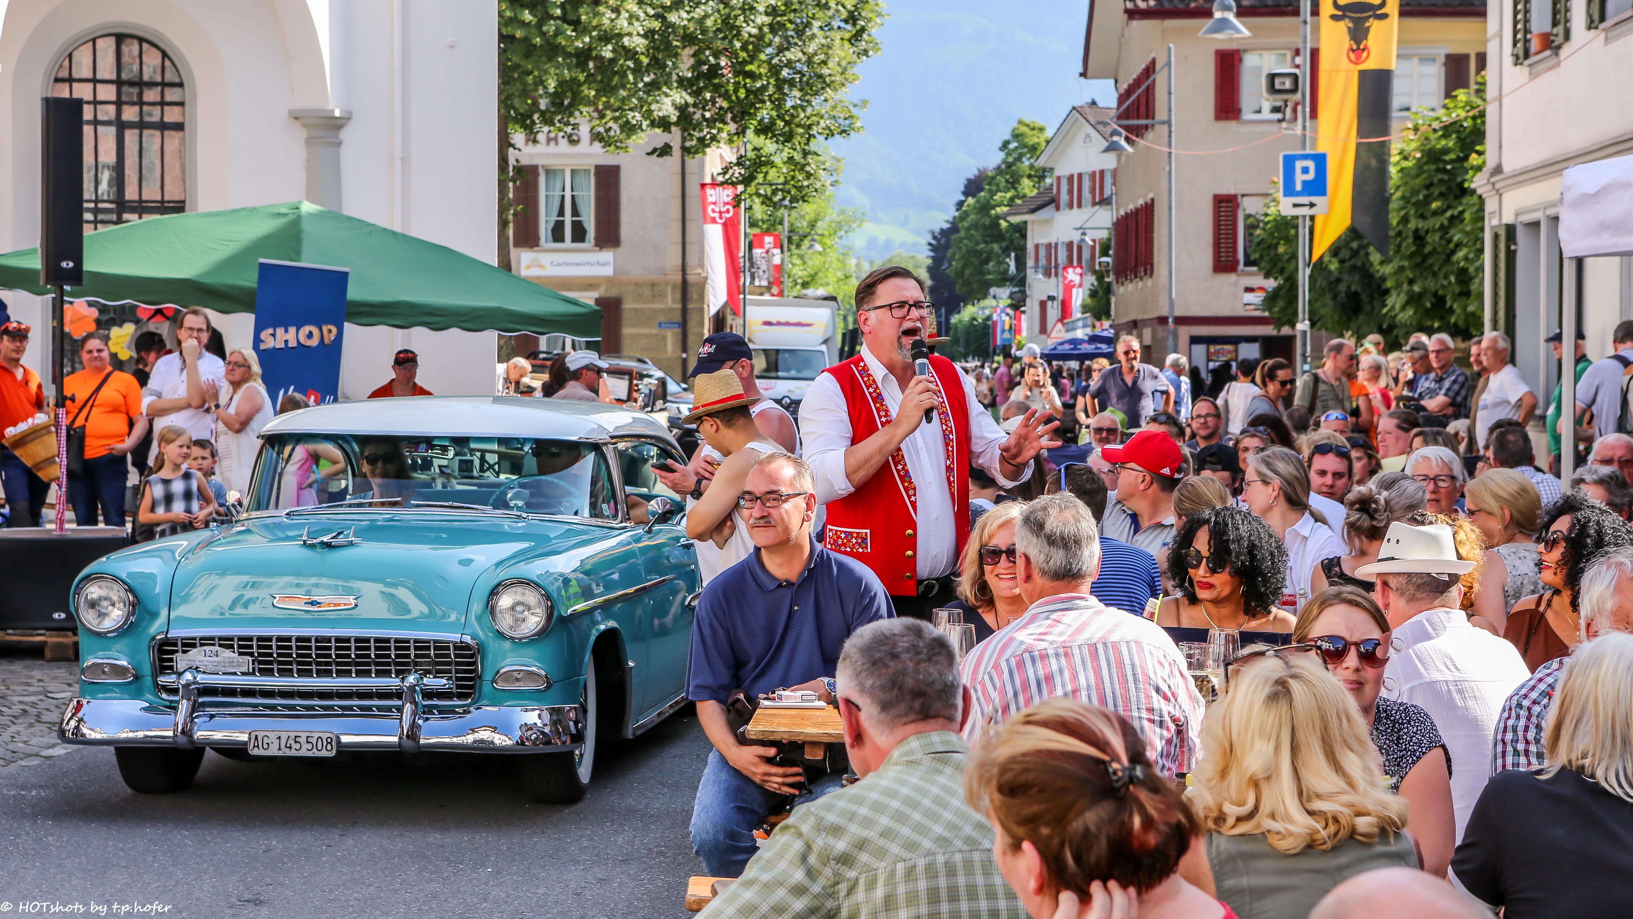
M 1284 217 L 1280 206 L 1280 194 L 1272 193 L 1249 245 L 1259 271 L 1275 281 L 1264 297 L 1264 312 L 1277 326 L 1293 328 L 1298 323 L 1298 217 Z M 1383 313 L 1385 282 L 1372 253 L 1372 243 L 1350 227 L 1310 266 L 1311 328 L 1334 335 L 1377 331 L 1391 338 L 1393 323 Z

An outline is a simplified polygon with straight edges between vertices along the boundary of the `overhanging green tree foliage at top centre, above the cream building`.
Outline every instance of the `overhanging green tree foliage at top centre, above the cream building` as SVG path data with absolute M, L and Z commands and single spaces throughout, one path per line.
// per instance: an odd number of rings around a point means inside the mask
M 738 147 L 720 175 L 771 206 L 834 178 L 821 140 L 861 131 L 856 67 L 880 0 L 500 0 L 500 111 L 513 134 L 590 131 L 612 152 L 679 132 Z M 671 144 L 652 150 L 670 157 Z M 754 188 L 781 183 L 781 188 Z

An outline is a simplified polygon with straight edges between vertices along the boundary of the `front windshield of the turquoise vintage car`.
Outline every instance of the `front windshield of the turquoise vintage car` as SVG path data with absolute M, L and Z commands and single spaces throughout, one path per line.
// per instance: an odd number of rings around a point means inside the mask
M 612 478 L 594 444 L 532 437 L 273 434 L 265 439 L 247 511 L 367 499 L 619 519 Z

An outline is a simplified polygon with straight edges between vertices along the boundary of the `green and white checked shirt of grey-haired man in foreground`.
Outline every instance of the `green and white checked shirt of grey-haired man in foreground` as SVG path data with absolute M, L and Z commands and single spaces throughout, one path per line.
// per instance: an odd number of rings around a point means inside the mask
M 967 756 L 952 731 L 901 741 L 867 779 L 794 808 L 704 916 L 1026 919 L 991 826 L 963 803 Z

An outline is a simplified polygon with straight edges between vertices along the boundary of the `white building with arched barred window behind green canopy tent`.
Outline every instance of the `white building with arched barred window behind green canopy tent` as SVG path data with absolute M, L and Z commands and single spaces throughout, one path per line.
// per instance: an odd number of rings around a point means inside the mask
M 87 104 L 88 224 L 305 198 L 495 261 L 492 2 L 11 0 L 0 10 L 0 251 L 38 242 L 39 98 L 124 93 L 144 104 Z M 5 299 L 49 328 L 42 300 Z M 220 317 L 227 346 L 248 344 L 253 322 Z M 421 353 L 420 382 L 439 395 L 493 390 L 492 331 L 348 323 L 341 398 L 389 380 L 398 348 Z M 28 357 L 39 369 L 42 336 Z

